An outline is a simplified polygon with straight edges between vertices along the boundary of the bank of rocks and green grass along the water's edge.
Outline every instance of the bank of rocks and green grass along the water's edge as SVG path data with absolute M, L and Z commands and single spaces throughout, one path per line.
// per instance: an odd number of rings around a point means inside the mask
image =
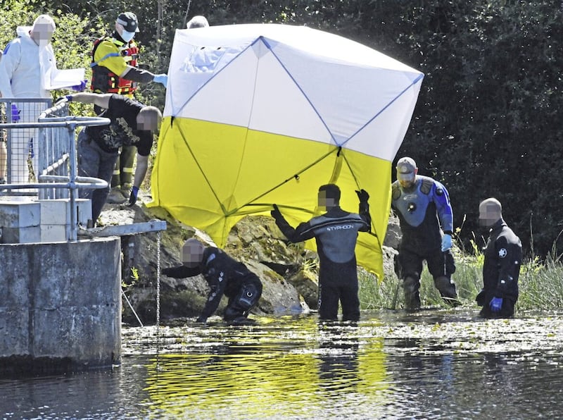
M 101 222 L 105 225 L 144 222 L 154 218 L 167 222 L 167 230 L 160 234 L 160 260 L 157 252 L 159 234 L 122 238 L 123 288 L 129 300 L 123 302 L 123 321 L 130 325 L 139 325 L 139 321 L 129 303 L 142 323 L 156 321 L 159 282 L 160 320 L 163 323 L 198 316 L 208 292 L 207 283 L 201 276 L 187 279 L 158 276 L 159 263 L 160 268 L 181 264 L 179 256 L 186 239 L 194 235 L 202 240 L 210 239 L 200 230 L 175 221 L 162 209 L 147 209 L 144 203 L 150 200 L 148 195 L 141 193 L 136 206 L 106 204 L 101 214 Z M 359 268 L 363 310 L 403 308 L 403 291 L 393 272 L 393 256 L 399 239 L 397 221 L 392 219 L 384 242 L 384 281 L 377 282 L 375 276 Z M 300 314 L 317 309 L 317 255 L 304 249 L 303 244 L 287 246 L 272 218 L 244 218 L 232 230 L 225 249 L 248 264 L 265 282 L 265 293 L 255 314 Z M 457 266 L 453 278 L 462 307 L 477 310 L 474 299 L 482 287 L 483 256 L 477 246 L 472 250 L 473 254 L 462 252 L 458 247 L 454 247 L 453 252 Z M 559 260 L 548 259 L 545 263 L 540 263 L 538 259 L 524 261 L 517 315 L 518 311 L 563 308 L 562 277 L 563 266 Z M 422 275 L 421 297 L 424 307 L 447 307 L 426 269 Z

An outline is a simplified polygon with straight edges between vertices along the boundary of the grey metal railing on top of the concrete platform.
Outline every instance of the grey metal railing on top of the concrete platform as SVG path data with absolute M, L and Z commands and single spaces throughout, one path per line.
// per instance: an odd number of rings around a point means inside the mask
M 35 101 L 35 102 L 34 102 Z M 36 99 L 1 99 L 4 103 L 6 123 L 0 125 L 2 131 L 6 132 L 7 151 L 7 183 L 1 185 L 2 195 L 32 195 L 39 199 L 69 198 L 70 197 L 70 237 L 69 240 L 77 240 L 77 209 L 76 199 L 79 188 L 106 188 L 108 183 L 99 178 L 80 177 L 77 175 L 77 147 L 75 132 L 79 127 L 93 125 L 108 125 L 108 118 L 69 116 L 68 105 L 61 104 L 51 106 L 39 113 L 37 122 L 27 122 L 20 118 L 14 121 L 17 114 L 12 111 L 12 105 L 23 103 L 37 103 Z M 44 101 L 39 100 L 39 104 Z M 18 109 L 18 111 L 21 110 Z M 24 156 L 27 164 L 37 173 L 24 179 L 23 182 L 14 182 L 13 156 L 15 147 L 16 130 L 37 130 L 37 137 L 33 139 L 30 147 L 30 155 Z M 1 174 L 0 174 L 1 176 Z M 23 194 L 18 194 L 23 190 Z M 1 197 L 0 197 L 1 198 Z

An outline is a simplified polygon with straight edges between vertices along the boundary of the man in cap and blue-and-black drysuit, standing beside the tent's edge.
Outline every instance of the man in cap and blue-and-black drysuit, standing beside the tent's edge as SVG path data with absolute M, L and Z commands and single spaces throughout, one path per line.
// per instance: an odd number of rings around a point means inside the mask
M 458 304 L 452 274 L 453 211 L 448 190 L 438 181 L 418 175 L 410 157 L 398 160 L 397 180 L 391 185 L 391 208 L 396 212 L 402 237 L 395 260 L 397 276 L 403 280 L 405 308 L 420 309 L 422 263 L 434 285 L 449 304 Z

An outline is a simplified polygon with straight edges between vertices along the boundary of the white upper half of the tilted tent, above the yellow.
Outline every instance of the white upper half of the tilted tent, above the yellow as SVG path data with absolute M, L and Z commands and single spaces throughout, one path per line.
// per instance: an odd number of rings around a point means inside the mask
M 393 160 L 422 73 L 308 27 L 177 30 L 165 116 L 273 132 Z

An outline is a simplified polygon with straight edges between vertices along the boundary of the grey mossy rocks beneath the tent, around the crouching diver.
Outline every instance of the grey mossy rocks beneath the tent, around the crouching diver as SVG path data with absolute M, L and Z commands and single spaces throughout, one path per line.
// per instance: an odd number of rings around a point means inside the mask
M 189 237 L 208 245 L 213 241 L 201 230 L 186 226 L 163 209 L 148 209 L 139 197 L 138 205 L 106 204 L 101 225 L 165 220 L 167 230 L 122 237 L 123 321 L 132 325 L 154 323 L 157 310 L 162 323 L 196 317 L 205 304 L 208 285 L 202 276 L 175 279 L 161 276 L 158 268 L 181 263 L 181 249 Z M 396 236 L 391 228 L 388 238 Z M 391 245 L 395 245 L 391 242 Z M 158 249 L 160 248 L 160 252 Z M 265 216 L 248 216 L 232 229 L 224 250 L 256 273 L 264 285 L 255 314 L 299 314 L 317 309 L 317 254 L 303 244 L 288 245 L 284 235 Z M 385 247 L 385 271 L 393 269 L 394 249 Z M 159 258 L 160 255 L 160 258 Z M 361 268 L 360 268 L 361 269 Z M 157 306 L 157 293 L 160 295 Z M 226 298 L 222 299 L 220 314 Z M 139 317 L 139 320 L 137 319 Z

